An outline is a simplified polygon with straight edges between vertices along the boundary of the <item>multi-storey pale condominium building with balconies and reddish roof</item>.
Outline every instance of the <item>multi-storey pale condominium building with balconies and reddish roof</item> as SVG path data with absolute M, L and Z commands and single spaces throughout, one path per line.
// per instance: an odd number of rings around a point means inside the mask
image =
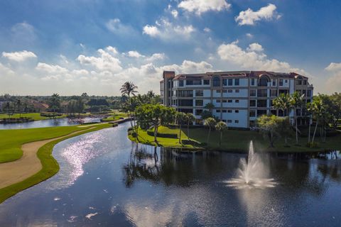
M 160 82 L 162 104 L 173 106 L 178 111 L 195 115 L 195 124 L 202 124 L 202 111 L 211 111 L 229 127 L 249 128 L 256 118 L 264 114 L 297 116 L 298 124 L 308 124 L 305 104 L 313 98 L 313 85 L 308 77 L 300 74 L 237 71 L 206 72 L 202 74 L 178 74 L 163 72 Z M 304 94 L 301 108 L 286 111 L 276 110 L 272 100 L 279 94 Z M 206 104 L 212 109 L 205 109 Z M 293 123 L 293 118 L 291 118 Z

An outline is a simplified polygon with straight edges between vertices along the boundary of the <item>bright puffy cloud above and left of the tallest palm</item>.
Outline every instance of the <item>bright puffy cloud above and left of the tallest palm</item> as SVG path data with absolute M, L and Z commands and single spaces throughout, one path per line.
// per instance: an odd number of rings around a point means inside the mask
M 108 70 L 110 72 L 119 72 L 122 70 L 121 61 L 117 57 L 112 56 L 106 50 L 99 49 L 97 52 L 100 55 L 99 57 L 79 55 L 77 60 L 80 64 L 90 65 L 97 70 Z

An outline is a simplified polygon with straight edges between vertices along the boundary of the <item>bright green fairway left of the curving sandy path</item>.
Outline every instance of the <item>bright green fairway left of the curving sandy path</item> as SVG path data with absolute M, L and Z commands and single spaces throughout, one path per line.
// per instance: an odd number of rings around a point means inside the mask
M 84 129 L 78 126 L 63 126 L 0 130 L 0 163 L 11 162 L 20 158 L 23 155 L 21 145 L 24 143 L 57 138 Z

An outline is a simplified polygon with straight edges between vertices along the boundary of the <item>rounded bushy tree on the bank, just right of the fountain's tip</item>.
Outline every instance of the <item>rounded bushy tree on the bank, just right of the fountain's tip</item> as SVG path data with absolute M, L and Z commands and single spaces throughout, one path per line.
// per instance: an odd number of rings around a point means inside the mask
M 270 148 L 274 148 L 274 142 L 280 137 L 281 121 L 280 117 L 262 115 L 257 118 L 257 125 L 264 136 L 269 138 Z M 278 121 L 279 120 L 279 121 Z

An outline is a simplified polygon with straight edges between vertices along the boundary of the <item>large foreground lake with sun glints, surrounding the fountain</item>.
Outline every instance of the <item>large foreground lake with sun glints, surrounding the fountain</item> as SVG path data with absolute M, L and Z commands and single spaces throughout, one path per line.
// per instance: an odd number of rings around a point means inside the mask
M 246 155 L 136 145 L 127 128 L 58 143 L 60 172 L 0 204 L 0 226 L 340 226 L 338 159 L 264 155 L 276 185 L 240 189 Z

